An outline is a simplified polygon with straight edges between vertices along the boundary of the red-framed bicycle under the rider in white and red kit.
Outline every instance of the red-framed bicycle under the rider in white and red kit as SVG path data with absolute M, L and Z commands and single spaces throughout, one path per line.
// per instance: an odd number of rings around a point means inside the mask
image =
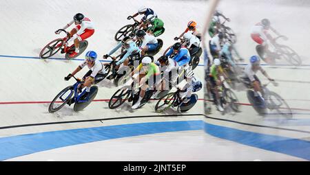
M 51 56 L 54 56 L 54 54 L 56 54 L 61 49 L 61 54 L 65 54 L 66 59 L 72 59 L 72 58 L 76 58 L 79 55 L 81 55 L 83 53 L 83 51 L 85 51 L 85 49 L 88 46 L 87 40 L 82 40 L 79 43 L 79 54 L 77 54 L 74 57 L 70 57 L 70 54 L 72 54 L 73 51 L 75 51 L 74 44 L 72 44 L 66 50 L 63 48 L 65 43 L 67 43 L 68 40 L 70 40 L 70 38 L 71 38 L 70 33 L 63 30 L 63 29 L 59 29 L 56 32 L 64 32 L 65 34 L 67 34 L 67 37 L 57 38 L 55 40 L 52 40 L 50 43 L 48 43 L 48 45 L 45 45 L 45 47 L 43 47 L 43 49 L 41 50 L 41 52 L 39 54 L 40 58 L 42 58 L 42 59 L 50 58 Z

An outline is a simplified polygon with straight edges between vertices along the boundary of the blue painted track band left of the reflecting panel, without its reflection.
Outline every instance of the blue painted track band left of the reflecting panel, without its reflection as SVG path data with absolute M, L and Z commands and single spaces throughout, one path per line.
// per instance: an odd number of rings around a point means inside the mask
M 0 138 L 0 160 L 3 161 L 35 152 L 94 141 L 150 135 L 160 132 L 202 129 L 203 121 L 167 121 L 59 130 L 30 135 L 3 137 Z

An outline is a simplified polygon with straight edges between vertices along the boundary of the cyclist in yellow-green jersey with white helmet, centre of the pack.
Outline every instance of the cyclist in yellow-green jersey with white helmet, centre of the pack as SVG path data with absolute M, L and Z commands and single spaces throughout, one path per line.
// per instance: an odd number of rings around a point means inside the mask
M 143 100 L 147 88 L 149 88 L 149 86 L 156 86 L 156 80 L 161 80 L 161 71 L 159 70 L 159 67 L 152 62 L 152 58 L 149 58 L 148 56 L 145 56 L 142 59 L 141 64 L 138 65 L 134 71 L 132 71 L 131 76 L 136 73 L 139 73 L 138 82 L 139 86 L 141 86 L 141 91 L 138 101 L 132 106 L 133 109 L 140 106 L 141 100 Z M 152 77 L 154 78 L 153 80 Z

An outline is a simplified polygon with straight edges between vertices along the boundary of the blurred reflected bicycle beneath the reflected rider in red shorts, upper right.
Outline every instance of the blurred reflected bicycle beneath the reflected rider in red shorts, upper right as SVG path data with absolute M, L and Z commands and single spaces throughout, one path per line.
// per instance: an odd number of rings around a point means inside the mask
M 268 36 L 268 38 L 271 38 L 271 36 Z M 258 53 L 258 56 L 260 56 L 260 58 L 262 58 L 262 60 L 264 60 L 265 62 L 272 65 L 276 64 L 276 60 L 280 60 L 282 58 L 285 58 L 285 60 L 291 63 L 291 65 L 302 65 L 302 60 L 300 56 L 298 56 L 296 51 L 294 51 L 293 49 L 291 49 L 291 47 L 288 47 L 287 45 L 280 45 L 277 43 L 277 40 L 279 38 L 285 39 L 287 37 L 281 35 L 276 38 L 270 39 L 270 43 L 274 47 L 275 51 L 267 50 L 262 45 L 256 45 L 256 52 Z

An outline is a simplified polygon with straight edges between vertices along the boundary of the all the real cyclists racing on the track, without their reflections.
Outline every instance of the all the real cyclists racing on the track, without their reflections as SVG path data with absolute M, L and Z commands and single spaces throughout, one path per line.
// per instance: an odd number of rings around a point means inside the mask
M 134 36 L 125 36 L 108 54 L 103 56 L 104 59 L 110 57 L 115 60 L 113 63 L 115 71 L 113 71 L 112 75 L 107 77 L 107 79 L 112 80 L 115 78 L 119 67 L 122 65 L 127 66 L 130 59 L 137 56 L 140 58 L 139 64 L 132 73 L 130 73 L 130 76 L 134 82 L 138 83 L 141 91 L 138 100 L 132 106 L 133 109 L 140 106 L 147 89 L 158 89 L 153 95 L 156 97 L 161 91 L 165 91 L 165 89 L 169 88 L 164 81 L 164 75 L 168 75 L 169 77 L 167 77 L 167 79 L 177 84 L 178 81 L 176 79 L 180 78 L 180 75 L 178 75 L 180 71 L 183 71 L 183 78 L 187 82 L 187 88 L 184 91 L 184 100 L 185 103 L 189 102 L 192 92 L 202 89 L 202 83 L 195 77 L 192 68 L 189 66 L 189 60 L 191 58 L 190 51 L 200 45 L 200 36 L 196 32 L 196 22 L 190 21 L 185 32 L 175 38 L 175 40 L 178 40 L 178 38 L 183 37 L 183 42 L 176 42 L 165 55 L 154 61 L 153 58 L 147 56 L 147 52 L 158 49 L 158 40 L 156 37 L 160 36 L 165 31 L 163 27 L 164 23 L 158 18 L 154 10 L 144 7 L 139 8 L 136 14 L 128 16 L 127 19 L 138 15 L 143 15 L 143 17 L 141 18 L 140 25 L 135 29 Z M 83 14 L 79 13 L 74 15 L 74 20 L 65 25 L 63 29 L 67 29 L 73 23 L 76 26 L 71 30 L 68 36 L 66 36 L 70 37 L 70 40 L 68 40 L 62 48 L 63 51 L 65 51 L 65 49 L 69 47 L 68 43 L 73 41 L 76 50 L 72 53 L 72 56 L 79 53 L 79 42 L 94 34 L 92 21 Z M 140 44 L 137 45 L 137 43 Z M 112 56 L 118 49 L 122 49 L 121 54 L 117 57 Z M 86 65 L 90 71 L 83 76 L 84 82 L 79 86 L 78 90 L 81 92 L 83 88 L 86 88 L 85 97 L 89 95 L 90 86 L 92 86 L 92 84 L 96 84 L 105 78 L 105 65 L 99 61 L 95 51 L 87 51 L 83 63 L 64 78 L 67 81 L 70 80 L 72 76 L 81 71 Z M 68 102 L 69 105 L 73 103 L 72 100 Z

